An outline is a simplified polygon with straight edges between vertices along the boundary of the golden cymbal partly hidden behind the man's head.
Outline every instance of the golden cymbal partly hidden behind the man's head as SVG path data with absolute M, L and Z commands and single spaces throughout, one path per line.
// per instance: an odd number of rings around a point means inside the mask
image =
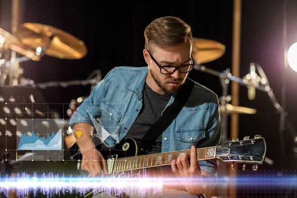
M 226 47 L 209 39 L 193 39 L 192 55 L 200 64 L 211 62 L 220 58 L 226 51 Z

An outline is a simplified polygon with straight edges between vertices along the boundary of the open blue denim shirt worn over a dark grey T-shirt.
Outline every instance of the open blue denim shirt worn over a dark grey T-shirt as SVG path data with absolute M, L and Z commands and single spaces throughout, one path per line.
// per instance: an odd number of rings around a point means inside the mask
M 93 125 L 92 119 L 95 118 L 109 134 L 119 134 L 118 141 L 121 141 L 142 108 L 147 74 L 148 67 L 121 66 L 110 70 L 72 115 L 70 126 L 79 122 Z M 174 97 L 171 96 L 165 109 L 174 101 Z M 220 138 L 217 95 L 195 82 L 185 106 L 162 134 L 161 152 L 191 149 L 192 145 L 196 148 L 213 147 L 219 144 Z M 104 140 L 104 144 L 113 147 L 118 141 L 111 135 Z M 200 160 L 199 165 L 201 170 L 216 178 L 216 159 Z M 163 170 L 165 167 L 162 167 Z

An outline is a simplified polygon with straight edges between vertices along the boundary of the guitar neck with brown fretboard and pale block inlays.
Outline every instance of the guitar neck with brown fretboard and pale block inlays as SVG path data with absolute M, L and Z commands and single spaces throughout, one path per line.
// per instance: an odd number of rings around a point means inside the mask
M 133 157 L 118 158 L 115 161 L 113 172 L 137 170 L 143 168 L 170 165 L 173 159 L 177 159 L 181 153 L 191 153 L 191 150 L 163 152 L 157 154 L 140 155 Z M 216 158 L 216 147 L 196 149 L 197 160 Z

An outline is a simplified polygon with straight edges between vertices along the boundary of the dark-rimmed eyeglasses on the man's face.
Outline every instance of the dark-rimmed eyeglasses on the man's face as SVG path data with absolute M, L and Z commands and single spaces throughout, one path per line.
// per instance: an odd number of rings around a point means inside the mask
M 146 49 L 148 51 L 148 49 Z M 150 52 L 148 51 L 148 54 L 150 55 L 151 59 L 156 63 L 156 65 L 160 68 L 160 72 L 161 74 L 173 74 L 177 69 L 181 72 L 181 73 L 188 73 L 190 72 L 194 66 L 195 66 L 195 62 L 194 62 L 194 58 L 191 55 L 192 64 L 186 64 L 186 65 L 181 65 L 181 66 L 160 66 L 159 63 L 156 61 L 156 59 L 154 59 L 154 57 L 150 54 Z

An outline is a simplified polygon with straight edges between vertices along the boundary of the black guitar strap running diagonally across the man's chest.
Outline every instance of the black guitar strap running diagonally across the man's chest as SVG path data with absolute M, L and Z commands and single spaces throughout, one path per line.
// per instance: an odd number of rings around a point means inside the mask
M 148 132 L 141 139 L 138 147 L 139 154 L 145 154 L 154 141 L 168 128 L 172 121 L 177 117 L 186 101 L 188 100 L 194 87 L 194 81 L 187 78 L 182 89 L 177 93 L 173 103 L 163 112 L 161 117 L 150 126 Z

